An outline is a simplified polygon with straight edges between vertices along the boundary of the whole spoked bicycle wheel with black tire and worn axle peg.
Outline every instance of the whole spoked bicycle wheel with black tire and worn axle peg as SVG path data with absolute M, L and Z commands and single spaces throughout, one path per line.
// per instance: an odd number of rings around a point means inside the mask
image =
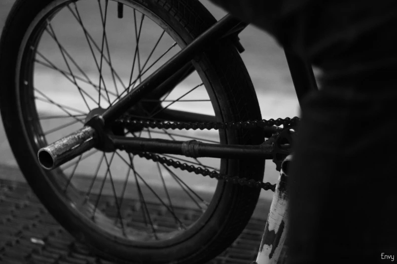
M 81 128 L 88 113 L 116 102 L 214 22 L 193 0 L 18 0 L 7 19 L 0 48 L 0 110 L 10 146 L 48 211 L 106 258 L 203 262 L 237 238 L 255 209 L 258 189 L 122 151 L 94 149 L 52 171 L 37 160 L 40 148 Z M 189 67 L 194 71 L 128 114 L 138 120 L 261 119 L 231 41 L 214 43 Z M 260 129 L 169 131 L 119 125 L 112 131 L 222 144 L 263 142 Z M 255 180 L 264 173 L 264 160 L 159 156 Z

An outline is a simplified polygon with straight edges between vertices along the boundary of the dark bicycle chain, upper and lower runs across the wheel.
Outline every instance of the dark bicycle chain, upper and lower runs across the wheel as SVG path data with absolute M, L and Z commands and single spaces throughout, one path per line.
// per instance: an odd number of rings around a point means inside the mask
M 164 121 L 153 121 L 153 120 L 136 120 L 134 117 L 123 116 L 120 119 L 116 120 L 116 123 L 119 124 L 127 124 L 138 127 L 145 128 L 159 128 L 159 129 L 200 129 L 200 130 L 210 130 L 210 129 L 240 129 L 240 128 L 264 128 L 269 126 L 283 126 L 283 129 L 290 128 L 292 126 L 296 126 L 299 117 L 289 118 L 286 117 L 284 119 L 277 118 L 269 119 L 269 120 L 252 120 L 252 121 L 239 121 L 239 122 L 164 122 Z M 283 130 L 282 129 L 282 130 Z M 273 141 L 279 135 L 279 133 L 273 134 Z M 238 176 L 230 177 L 229 175 L 219 173 L 216 170 L 208 170 L 203 169 L 201 167 L 196 167 L 194 165 L 188 165 L 187 163 L 181 163 L 179 161 L 175 161 L 173 159 L 169 159 L 166 157 L 161 157 L 154 153 L 149 152 L 131 152 L 133 155 L 138 155 L 141 158 L 146 158 L 148 160 L 153 160 L 155 162 L 159 162 L 163 165 L 172 166 L 174 168 L 179 168 L 181 170 L 187 170 L 189 172 L 194 172 L 196 174 L 201 174 L 204 177 L 209 176 L 210 178 L 215 178 L 217 180 L 224 180 L 226 182 L 232 182 L 234 184 L 240 184 L 241 186 L 248 186 L 253 188 L 262 188 L 264 190 L 272 190 L 275 191 L 276 185 L 271 183 L 264 183 L 262 181 L 255 181 L 254 179 L 240 178 Z

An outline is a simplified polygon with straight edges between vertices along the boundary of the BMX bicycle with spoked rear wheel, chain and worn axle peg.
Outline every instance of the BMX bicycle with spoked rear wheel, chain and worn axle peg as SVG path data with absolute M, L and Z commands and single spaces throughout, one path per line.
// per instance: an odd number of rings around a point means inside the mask
M 196 0 L 16 1 L 0 44 L 0 110 L 24 177 L 67 231 L 127 263 L 202 263 L 237 238 L 261 189 L 275 191 L 262 182 L 265 160 L 280 170 L 299 120 L 262 119 L 239 56 L 246 26 Z M 112 50 L 121 28 L 132 41 Z M 317 89 L 313 71 L 285 54 L 301 100 Z M 105 189 L 112 212 L 100 206 Z M 137 206 L 123 214 L 129 200 Z M 186 205 L 196 206 L 188 219 Z

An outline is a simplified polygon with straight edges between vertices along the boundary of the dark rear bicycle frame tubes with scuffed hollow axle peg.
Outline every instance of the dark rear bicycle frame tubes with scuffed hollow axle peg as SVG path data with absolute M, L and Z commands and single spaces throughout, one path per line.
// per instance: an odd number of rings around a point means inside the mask
M 125 90 L 117 103 L 103 111 L 102 114 L 95 114 L 86 122 L 85 127 L 75 133 L 39 150 L 38 158 L 41 165 L 47 169 L 53 169 L 65 162 L 81 155 L 82 153 L 96 147 L 102 151 L 113 151 L 125 149 L 129 151 L 147 151 L 168 154 L 182 154 L 192 157 L 216 157 L 216 158 L 265 158 L 272 159 L 271 145 L 219 145 L 204 144 L 196 141 L 175 142 L 170 140 L 156 139 L 134 139 L 112 136 L 106 131 L 117 118 L 129 110 L 144 97 L 160 97 L 164 91 L 168 91 L 172 85 L 177 84 L 185 74 L 189 74 L 194 68 L 190 61 L 194 56 L 210 49 L 211 43 L 220 41 L 222 38 L 233 37 L 247 26 L 241 20 L 226 15 L 220 21 L 194 39 L 186 48 L 177 53 L 163 66 L 143 80 L 134 89 Z M 239 48 L 239 45 L 237 45 Z M 241 47 L 240 47 L 241 50 Z M 299 102 L 310 91 L 316 90 L 316 82 L 311 65 L 301 56 L 290 51 L 285 51 L 288 67 L 292 75 L 295 90 Z M 168 89 L 168 90 L 167 90 Z M 178 112 L 178 113 L 177 113 Z M 179 111 L 169 110 L 162 113 L 162 117 L 170 121 L 186 121 Z M 158 116 L 156 116 L 158 117 Z M 213 122 L 213 116 L 195 114 L 193 122 Z M 189 151 L 197 149 L 199 151 Z M 193 148 L 196 147 L 196 148 Z

